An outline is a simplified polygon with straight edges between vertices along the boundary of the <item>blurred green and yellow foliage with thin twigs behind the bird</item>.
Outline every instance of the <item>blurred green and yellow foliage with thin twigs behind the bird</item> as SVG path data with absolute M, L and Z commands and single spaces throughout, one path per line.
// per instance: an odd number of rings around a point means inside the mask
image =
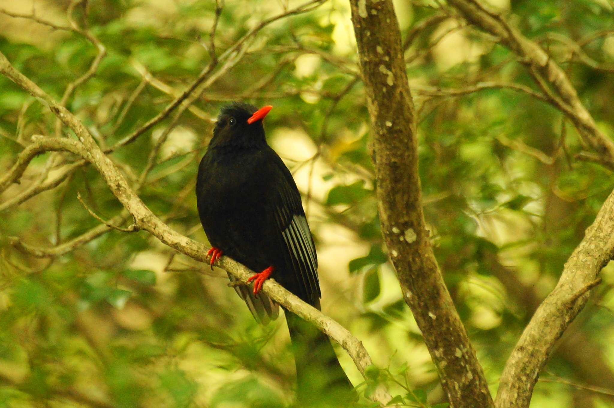
M 103 149 L 117 147 L 111 159 L 155 214 L 201 242 L 193 190 L 211 119 L 231 100 L 273 104 L 265 127 L 304 194 L 322 310 L 387 368 L 378 380 L 397 401 L 445 401 L 379 230 L 346 2 L 5 3 L 0 51 Z M 548 50 L 612 137 L 614 4 L 491 4 Z M 495 391 L 511 348 L 614 181 L 496 38 L 443 2 L 396 6 L 435 255 Z M 214 71 L 189 108 L 126 143 L 207 66 Z M 0 77 L 3 171 L 32 135 L 62 133 L 71 136 L 44 104 Z M 98 172 L 65 153 L 36 157 L 0 196 L 0 406 L 292 404 L 282 319 L 258 326 L 225 272 L 147 232 L 110 229 L 90 211 L 131 224 Z M 34 256 L 23 245 L 47 252 Z M 614 407 L 610 269 L 542 372 L 532 407 Z

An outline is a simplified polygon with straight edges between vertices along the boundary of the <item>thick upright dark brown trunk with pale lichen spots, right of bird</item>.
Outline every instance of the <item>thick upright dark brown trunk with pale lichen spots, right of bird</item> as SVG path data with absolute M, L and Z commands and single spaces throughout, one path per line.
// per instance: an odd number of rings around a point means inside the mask
M 379 218 L 405 302 L 450 405 L 492 407 L 488 383 L 441 277 L 424 221 L 416 114 L 392 1 L 351 0 L 350 5 L 374 133 Z

